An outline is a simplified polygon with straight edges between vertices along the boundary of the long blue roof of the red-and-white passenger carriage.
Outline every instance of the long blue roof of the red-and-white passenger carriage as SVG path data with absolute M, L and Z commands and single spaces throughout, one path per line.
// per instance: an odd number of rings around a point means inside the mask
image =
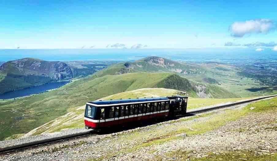
M 121 103 L 135 103 L 135 102 L 147 102 L 147 101 L 160 101 L 160 100 L 169 100 L 167 97 L 151 97 L 151 98 L 135 98 L 135 99 L 117 99 L 117 100 L 108 100 L 108 101 L 93 101 L 88 102 L 95 105 L 112 105 L 112 104 L 121 104 Z

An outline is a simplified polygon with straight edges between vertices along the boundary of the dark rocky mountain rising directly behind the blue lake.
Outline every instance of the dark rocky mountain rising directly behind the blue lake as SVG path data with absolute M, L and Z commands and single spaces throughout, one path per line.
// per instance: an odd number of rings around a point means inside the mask
M 63 62 L 24 58 L 0 66 L 0 93 L 73 78 L 70 67 Z

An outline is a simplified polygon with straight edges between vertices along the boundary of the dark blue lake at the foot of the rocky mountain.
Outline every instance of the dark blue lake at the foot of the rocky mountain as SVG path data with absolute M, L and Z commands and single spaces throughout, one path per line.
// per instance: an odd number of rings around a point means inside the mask
M 21 89 L 21 90 L 17 90 L 17 91 L 6 92 L 4 94 L 0 94 L 0 99 L 10 99 L 10 98 L 17 98 L 17 97 L 37 94 L 37 93 L 41 93 L 41 92 L 44 92 L 44 91 L 47 91 L 50 89 L 59 88 L 69 82 L 70 81 L 47 83 L 47 84 L 32 87 L 32 88 L 25 88 L 25 89 Z

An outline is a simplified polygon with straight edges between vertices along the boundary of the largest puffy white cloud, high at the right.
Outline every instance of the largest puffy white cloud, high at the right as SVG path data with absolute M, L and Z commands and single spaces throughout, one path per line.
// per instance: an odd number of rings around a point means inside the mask
M 234 22 L 229 30 L 233 37 L 243 37 L 251 33 L 268 33 L 276 29 L 276 24 L 268 19 L 247 20 L 243 22 Z

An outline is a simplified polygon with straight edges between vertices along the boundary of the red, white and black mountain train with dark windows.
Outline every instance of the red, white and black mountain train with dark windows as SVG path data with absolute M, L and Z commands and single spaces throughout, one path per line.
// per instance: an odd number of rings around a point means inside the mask
M 135 122 L 173 118 L 186 114 L 187 102 L 188 97 L 181 95 L 87 102 L 85 128 L 101 130 Z

